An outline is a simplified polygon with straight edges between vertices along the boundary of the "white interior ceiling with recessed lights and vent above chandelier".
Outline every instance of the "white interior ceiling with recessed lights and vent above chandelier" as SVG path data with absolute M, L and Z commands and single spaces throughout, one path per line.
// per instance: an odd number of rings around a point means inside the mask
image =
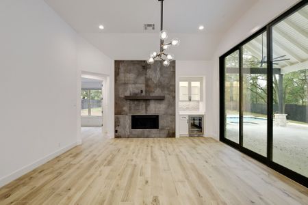
M 112 59 L 146 59 L 159 49 L 157 0 L 45 0 L 81 36 Z M 164 29 L 181 45 L 176 59 L 211 59 L 229 27 L 258 0 L 165 0 Z M 144 31 L 155 23 L 155 31 Z M 99 30 L 99 25 L 105 29 Z M 204 31 L 198 26 L 204 25 Z

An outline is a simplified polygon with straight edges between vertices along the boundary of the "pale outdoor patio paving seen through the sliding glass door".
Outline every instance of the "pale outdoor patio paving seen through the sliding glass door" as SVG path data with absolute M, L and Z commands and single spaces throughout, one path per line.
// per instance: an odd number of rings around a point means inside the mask
M 227 138 L 238 141 L 238 123 L 227 123 Z M 244 123 L 243 145 L 266 156 L 266 120 Z M 273 161 L 308 176 L 308 124 L 274 125 Z

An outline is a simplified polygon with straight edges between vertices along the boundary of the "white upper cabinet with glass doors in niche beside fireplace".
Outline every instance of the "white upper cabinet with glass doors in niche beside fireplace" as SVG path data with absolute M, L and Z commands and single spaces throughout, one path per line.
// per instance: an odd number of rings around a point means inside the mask
M 181 77 L 179 80 L 180 101 L 202 101 L 202 83 L 200 77 Z

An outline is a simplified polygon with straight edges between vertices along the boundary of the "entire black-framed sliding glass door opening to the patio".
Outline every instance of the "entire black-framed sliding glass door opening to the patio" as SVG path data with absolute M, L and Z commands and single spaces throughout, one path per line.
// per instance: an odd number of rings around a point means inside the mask
M 307 1 L 220 57 L 220 140 L 307 186 Z

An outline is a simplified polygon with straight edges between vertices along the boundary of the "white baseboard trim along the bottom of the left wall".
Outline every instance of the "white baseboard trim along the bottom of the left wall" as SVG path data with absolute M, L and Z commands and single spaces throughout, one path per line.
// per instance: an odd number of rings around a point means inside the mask
M 43 165 L 44 163 L 51 161 L 51 159 L 54 159 L 56 156 L 59 156 L 60 154 L 63 154 L 64 152 L 67 152 L 68 150 L 74 148 L 75 146 L 78 146 L 77 142 L 74 142 L 60 150 L 57 150 L 51 154 L 48 154 L 47 156 L 44 156 L 42 159 L 39 159 L 38 161 L 35 161 L 34 163 L 25 165 L 21 169 L 16 170 L 15 172 L 13 172 L 12 174 L 9 174 L 8 176 L 4 176 L 3 178 L 0 178 L 0 188 L 3 187 L 5 184 L 8 184 L 12 182 L 13 180 L 16 180 L 17 178 L 27 174 L 28 172 L 31 172 L 33 169 L 39 167 L 40 165 Z

